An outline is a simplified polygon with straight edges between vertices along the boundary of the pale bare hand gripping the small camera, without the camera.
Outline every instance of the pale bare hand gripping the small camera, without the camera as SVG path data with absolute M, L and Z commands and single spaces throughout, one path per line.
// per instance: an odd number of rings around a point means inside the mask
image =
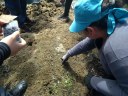
M 21 42 L 19 43 L 16 39 L 19 37 L 20 33 L 18 31 L 14 32 L 13 34 L 3 38 L 0 42 L 7 44 L 11 49 L 11 55 L 15 55 L 20 49 L 22 49 L 26 45 L 26 41 L 22 38 Z

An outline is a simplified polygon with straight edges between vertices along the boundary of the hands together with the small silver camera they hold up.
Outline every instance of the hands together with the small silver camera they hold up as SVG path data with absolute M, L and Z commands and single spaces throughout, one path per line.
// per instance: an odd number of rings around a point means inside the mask
M 7 44 L 11 50 L 11 55 L 15 55 L 25 45 L 26 41 L 20 37 L 20 28 L 16 16 L 0 16 L 0 26 L 4 37 L 0 42 Z

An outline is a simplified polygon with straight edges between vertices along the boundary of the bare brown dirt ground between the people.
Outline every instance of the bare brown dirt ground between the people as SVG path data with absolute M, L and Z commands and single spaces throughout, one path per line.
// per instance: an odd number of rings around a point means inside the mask
M 28 5 L 28 16 L 35 19 L 36 24 L 31 33 L 21 33 L 27 46 L 0 67 L 1 86 L 10 84 L 12 87 L 26 80 L 25 96 L 87 96 L 86 63 L 95 56 L 81 54 L 70 58 L 66 66 L 62 65 L 60 58 L 81 40 L 78 34 L 68 30 L 73 20 L 72 9 L 69 23 L 57 19 L 63 10 L 55 2 Z

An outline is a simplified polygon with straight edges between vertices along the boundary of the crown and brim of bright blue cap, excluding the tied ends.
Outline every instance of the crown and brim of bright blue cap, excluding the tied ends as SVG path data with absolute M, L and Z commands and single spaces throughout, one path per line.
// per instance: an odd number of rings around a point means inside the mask
M 80 32 L 92 22 L 101 19 L 102 2 L 103 0 L 78 0 L 74 8 L 75 19 L 69 30 Z

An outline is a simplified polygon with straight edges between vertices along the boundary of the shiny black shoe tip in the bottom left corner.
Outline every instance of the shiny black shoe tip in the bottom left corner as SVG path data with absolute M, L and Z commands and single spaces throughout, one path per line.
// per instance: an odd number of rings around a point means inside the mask
M 13 96 L 23 96 L 26 89 L 27 89 L 27 82 L 23 80 L 20 83 L 18 83 L 15 86 L 15 88 L 11 89 L 9 93 Z

